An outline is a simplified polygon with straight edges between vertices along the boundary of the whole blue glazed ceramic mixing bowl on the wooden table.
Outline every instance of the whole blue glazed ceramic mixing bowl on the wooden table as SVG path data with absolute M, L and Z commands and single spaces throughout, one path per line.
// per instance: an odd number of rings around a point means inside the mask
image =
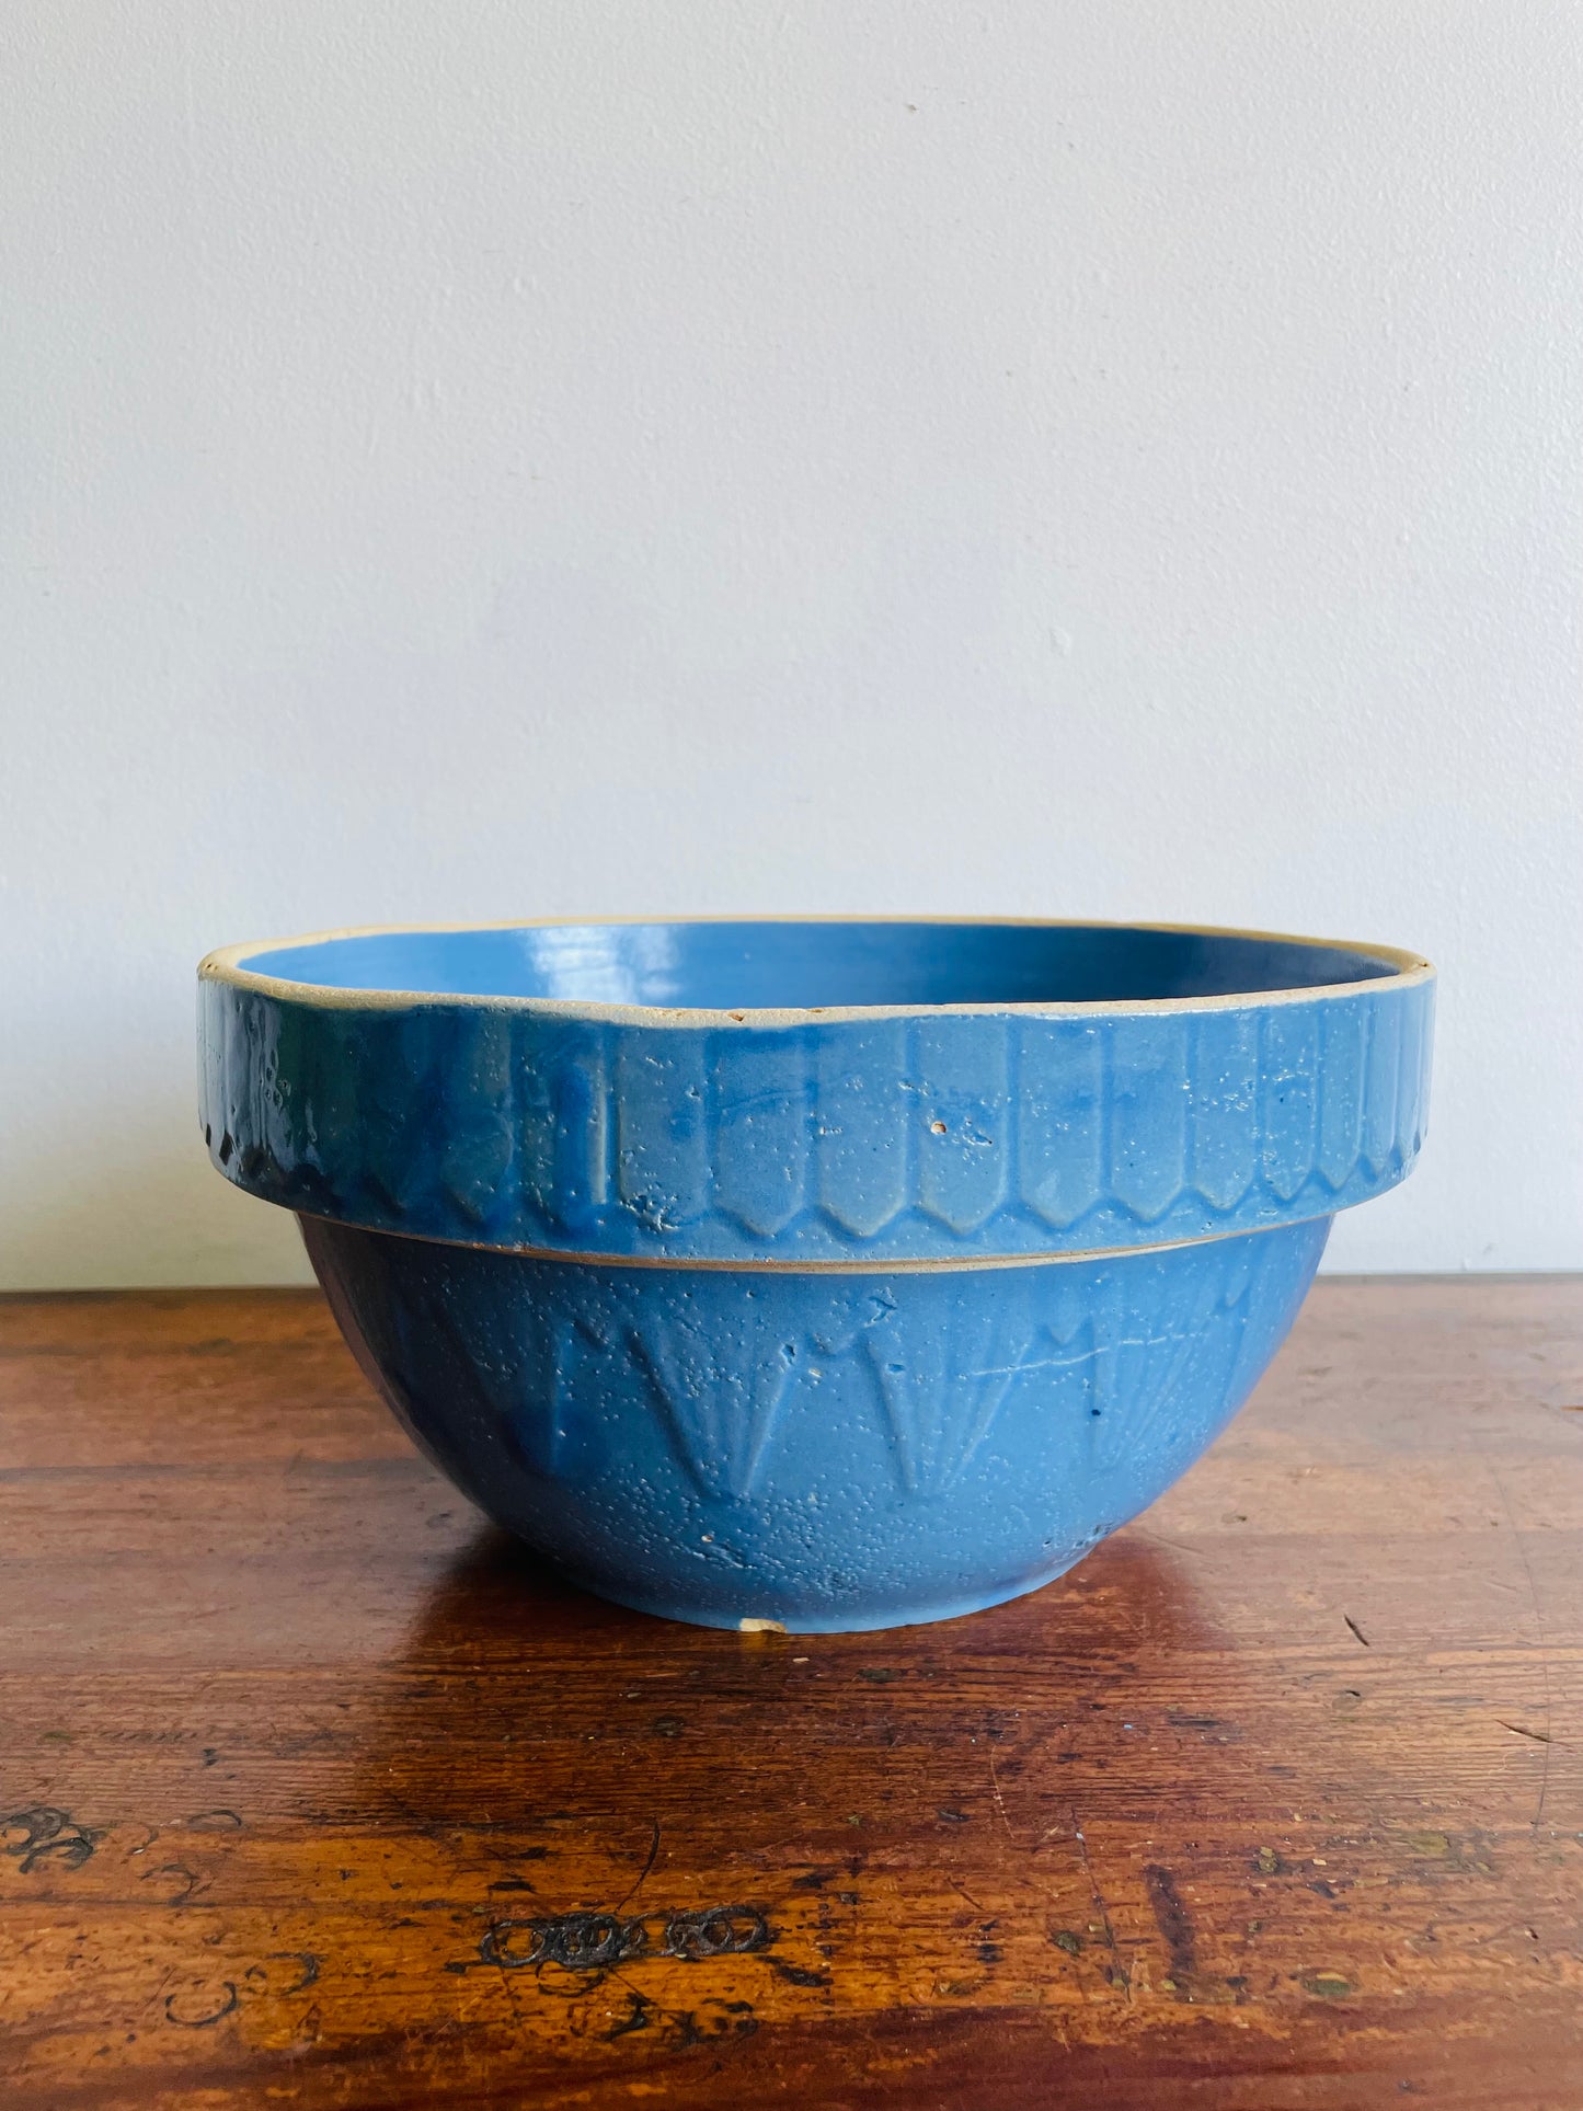
M 1412 1165 L 1433 971 L 1060 923 L 602 923 L 211 954 L 215 1165 L 481 1509 L 794 1632 L 1034 1590 L 1237 1410 Z

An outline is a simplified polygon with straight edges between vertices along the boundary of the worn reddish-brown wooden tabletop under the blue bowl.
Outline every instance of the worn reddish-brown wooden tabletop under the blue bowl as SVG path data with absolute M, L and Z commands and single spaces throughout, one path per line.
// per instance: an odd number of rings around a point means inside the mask
M 1583 1283 L 1321 1283 L 1034 1598 L 583 1598 L 298 1292 L 0 1302 L 0 2103 L 1583 2107 Z

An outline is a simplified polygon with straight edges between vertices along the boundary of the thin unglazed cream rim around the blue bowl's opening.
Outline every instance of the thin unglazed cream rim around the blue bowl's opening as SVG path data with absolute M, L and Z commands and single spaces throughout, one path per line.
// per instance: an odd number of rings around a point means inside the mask
M 287 975 L 264 975 L 247 967 L 262 952 L 279 952 L 291 946 L 325 946 L 346 937 L 399 937 L 431 931 L 547 931 L 576 927 L 618 927 L 618 925 L 937 925 L 975 927 L 988 931 L 1038 929 L 1038 931 L 1176 931 L 1188 937 L 1209 939 L 1264 939 L 1279 946 L 1302 946 L 1315 952 L 1353 952 L 1389 967 L 1387 975 L 1370 975 L 1361 982 L 1309 982 L 1292 990 L 1226 990 L 1216 996 L 1129 996 L 1129 999 L 1064 999 L 1034 1003 L 946 1003 L 946 1005 L 789 1005 L 789 1007 L 743 1007 L 737 1011 L 707 1005 L 621 1005 L 580 996 L 483 996 L 458 990 L 346 990 L 323 982 L 295 982 Z M 306 1005 L 323 1011 L 407 1011 L 445 1005 L 469 1011 L 528 1013 L 553 1020 L 587 1020 L 612 1026 L 673 1026 L 673 1028 L 787 1028 L 787 1026 L 838 1026 L 844 1022 L 876 1020 L 941 1020 L 941 1018 L 1030 1018 L 1030 1020 L 1095 1020 L 1095 1018 L 1165 1018 L 1197 1011 L 1250 1011 L 1266 1005 L 1309 1005 L 1338 1001 L 1347 996 L 1385 994 L 1414 984 L 1433 982 L 1433 965 L 1416 952 L 1399 946 L 1380 946 L 1368 939 L 1307 937 L 1290 931 L 1250 931 L 1237 925 L 1199 923 L 1142 923 L 1133 918 L 1104 916 L 895 916 L 872 914 L 775 914 L 775 916 L 502 916 L 498 920 L 462 918 L 456 923 L 388 923 L 388 925 L 342 925 L 329 931 L 304 931 L 293 937 L 247 939 L 239 946 L 220 946 L 198 963 L 198 980 L 270 996 L 279 1003 Z

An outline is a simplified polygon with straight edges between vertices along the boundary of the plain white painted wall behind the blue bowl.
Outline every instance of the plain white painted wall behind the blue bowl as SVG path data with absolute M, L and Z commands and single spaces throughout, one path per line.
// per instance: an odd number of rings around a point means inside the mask
M 304 1273 L 205 948 L 652 908 L 1418 946 L 1332 1264 L 1583 1264 L 1575 11 L 0 36 L 0 1281 Z

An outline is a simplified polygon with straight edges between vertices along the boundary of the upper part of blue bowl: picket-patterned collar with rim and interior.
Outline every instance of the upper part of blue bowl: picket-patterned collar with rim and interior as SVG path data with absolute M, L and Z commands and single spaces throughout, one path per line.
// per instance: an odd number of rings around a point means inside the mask
M 374 933 L 205 963 L 203 1121 L 249 1193 L 428 1239 L 876 1264 L 1159 1245 L 1401 1180 L 1431 1005 L 1427 973 L 1363 950 L 1212 931 Z

